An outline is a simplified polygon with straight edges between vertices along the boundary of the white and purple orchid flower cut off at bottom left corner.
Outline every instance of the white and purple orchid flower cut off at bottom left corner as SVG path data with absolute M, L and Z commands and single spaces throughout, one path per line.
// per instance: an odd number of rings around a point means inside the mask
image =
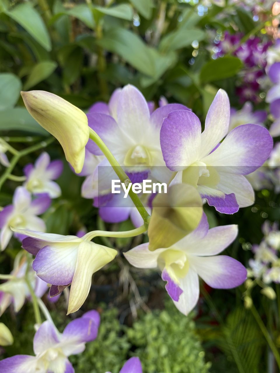
M 0 361 L 3 373 L 74 373 L 68 356 L 80 354 L 85 343 L 97 337 L 100 316 L 97 311 L 88 311 L 71 321 L 59 333 L 52 322 L 45 321 L 33 339 L 35 356 L 15 355 Z

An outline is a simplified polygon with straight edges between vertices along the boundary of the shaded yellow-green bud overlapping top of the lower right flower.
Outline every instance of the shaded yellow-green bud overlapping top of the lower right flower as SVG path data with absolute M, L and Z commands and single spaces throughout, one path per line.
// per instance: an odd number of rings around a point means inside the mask
M 200 195 L 191 185 L 174 184 L 166 194 L 158 194 L 148 228 L 149 250 L 170 247 L 192 232 L 202 212 Z

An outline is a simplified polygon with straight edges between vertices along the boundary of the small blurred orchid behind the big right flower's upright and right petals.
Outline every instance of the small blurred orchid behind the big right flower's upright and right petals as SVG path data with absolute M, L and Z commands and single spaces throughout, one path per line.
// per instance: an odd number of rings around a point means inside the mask
M 253 112 L 253 105 L 251 102 L 246 102 L 240 110 L 234 108 L 230 109 L 230 125 L 228 127 L 228 132 L 247 123 L 263 125 L 266 118 L 267 113 L 265 110 L 256 110 Z

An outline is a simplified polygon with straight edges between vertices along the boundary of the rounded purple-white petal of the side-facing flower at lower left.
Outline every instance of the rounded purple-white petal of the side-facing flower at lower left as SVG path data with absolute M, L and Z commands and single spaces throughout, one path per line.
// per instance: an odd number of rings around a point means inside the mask
M 72 282 L 80 242 L 51 244 L 43 247 L 33 261 L 37 276 L 53 285 L 68 285 Z

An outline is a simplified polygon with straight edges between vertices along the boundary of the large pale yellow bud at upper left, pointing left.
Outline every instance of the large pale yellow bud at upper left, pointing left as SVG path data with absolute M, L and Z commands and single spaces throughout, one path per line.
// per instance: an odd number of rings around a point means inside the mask
M 89 138 L 87 116 L 78 107 L 46 91 L 21 92 L 32 117 L 60 142 L 66 160 L 80 173 Z

